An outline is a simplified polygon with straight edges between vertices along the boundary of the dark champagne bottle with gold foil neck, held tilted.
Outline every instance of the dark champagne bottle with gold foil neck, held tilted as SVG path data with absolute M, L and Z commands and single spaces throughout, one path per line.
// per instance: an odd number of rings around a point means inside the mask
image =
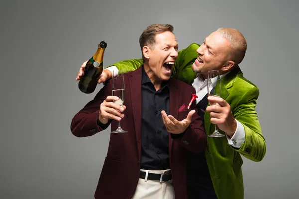
M 97 52 L 86 63 L 84 73 L 78 84 L 80 91 L 83 93 L 89 94 L 95 90 L 98 78 L 103 71 L 103 55 L 106 47 L 107 43 L 101 41 Z

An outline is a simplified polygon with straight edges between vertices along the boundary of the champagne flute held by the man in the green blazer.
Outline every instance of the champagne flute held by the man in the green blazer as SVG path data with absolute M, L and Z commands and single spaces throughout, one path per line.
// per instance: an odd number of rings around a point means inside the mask
M 221 98 L 221 81 L 219 71 L 208 71 L 208 96 L 215 96 Z M 209 101 L 210 105 L 219 105 L 218 103 L 213 103 Z M 209 137 L 224 137 L 224 134 L 219 133 L 218 127 L 215 124 L 215 130 Z

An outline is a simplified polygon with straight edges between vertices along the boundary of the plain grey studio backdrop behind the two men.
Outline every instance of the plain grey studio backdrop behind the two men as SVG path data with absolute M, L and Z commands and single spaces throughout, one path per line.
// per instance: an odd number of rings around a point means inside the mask
M 179 48 L 219 27 L 239 29 L 240 65 L 260 88 L 267 153 L 245 158 L 246 199 L 298 198 L 298 0 L 1 0 L 0 198 L 92 199 L 109 129 L 77 138 L 70 122 L 95 93 L 75 81 L 101 40 L 104 65 L 140 58 L 138 37 L 174 26 Z M 98 91 L 102 85 L 98 85 Z

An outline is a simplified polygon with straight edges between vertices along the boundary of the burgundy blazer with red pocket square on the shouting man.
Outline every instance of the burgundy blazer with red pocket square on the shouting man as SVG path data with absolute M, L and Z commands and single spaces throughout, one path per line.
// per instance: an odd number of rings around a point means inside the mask
M 96 199 L 131 199 L 133 196 L 140 170 L 141 159 L 141 74 L 142 67 L 133 72 L 124 74 L 125 81 L 125 117 L 121 126 L 128 133 L 110 134 L 107 156 L 102 168 L 98 186 L 95 192 Z M 179 121 L 185 119 L 189 111 L 180 111 L 184 104 L 188 106 L 191 94 L 195 90 L 191 85 L 170 79 L 169 88 L 170 114 Z M 71 131 L 77 137 L 94 135 L 104 129 L 97 125 L 100 104 L 108 95 L 112 95 L 111 83 L 97 93 L 94 100 L 90 101 L 72 119 Z M 192 108 L 196 108 L 196 103 Z M 115 130 L 118 122 L 111 122 L 111 129 Z M 186 157 L 187 151 L 195 153 L 204 152 L 206 147 L 206 134 L 202 120 L 197 112 L 192 117 L 192 123 L 184 136 L 172 139 L 169 134 L 169 157 L 176 199 L 187 199 L 186 186 Z M 84 169 L 82 169 L 82 172 Z

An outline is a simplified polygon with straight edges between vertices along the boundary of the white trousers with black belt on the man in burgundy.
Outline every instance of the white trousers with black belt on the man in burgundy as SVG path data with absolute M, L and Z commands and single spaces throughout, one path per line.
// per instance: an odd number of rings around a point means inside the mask
M 168 170 L 144 170 L 140 171 L 163 174 Z M 148 180 L 146 174 L 145 179 L 138 179 L 138 184 L 132 199 L 175 199 L 172 180 L 161 183 L 160 181 Z

